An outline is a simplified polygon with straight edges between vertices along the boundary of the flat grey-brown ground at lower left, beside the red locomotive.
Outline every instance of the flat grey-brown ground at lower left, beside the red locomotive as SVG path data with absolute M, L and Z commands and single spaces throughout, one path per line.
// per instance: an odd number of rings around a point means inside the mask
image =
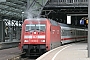
M 18 47 L 0 50 L 0 60 L 9 60 L 21 54 Z

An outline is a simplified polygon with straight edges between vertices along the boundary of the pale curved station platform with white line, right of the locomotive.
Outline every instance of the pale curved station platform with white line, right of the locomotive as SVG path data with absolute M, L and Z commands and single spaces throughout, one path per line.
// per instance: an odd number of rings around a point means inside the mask
M 50 50 L 36 60 L 90 60 L 90 58 L 88 58 L 87 43 L 79 42 Z

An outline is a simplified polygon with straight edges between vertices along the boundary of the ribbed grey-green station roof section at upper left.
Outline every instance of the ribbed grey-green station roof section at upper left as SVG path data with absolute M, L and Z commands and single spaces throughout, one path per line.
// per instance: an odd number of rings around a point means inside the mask
M 22 18 L 26 9 L 27 0 L 6 0 L 0 2 L 0 18 L 17 20 Z

